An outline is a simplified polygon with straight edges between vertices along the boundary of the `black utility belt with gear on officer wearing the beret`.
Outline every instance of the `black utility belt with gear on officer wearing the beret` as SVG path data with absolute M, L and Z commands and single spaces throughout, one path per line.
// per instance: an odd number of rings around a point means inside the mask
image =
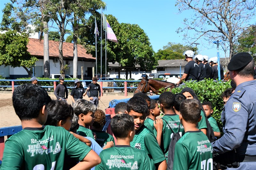
M 240 162 L 256 162 L 256 156 L 239 155 L 236 149 L 223 153 L 213 154 L 216 169 L 238 168 Z

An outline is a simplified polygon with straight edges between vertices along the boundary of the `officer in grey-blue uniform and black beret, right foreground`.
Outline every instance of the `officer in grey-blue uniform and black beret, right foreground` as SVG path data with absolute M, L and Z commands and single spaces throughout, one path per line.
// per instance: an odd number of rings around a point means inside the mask
M 224 135 L 212 142 L 213 152 L 225 154 L 222 159 L 228 163 L 228 169 L 252 170 L 256 167 L 256 81 L 252 56 L 245 52 L 234 55 L 228 70 L 236 89 L 221 113 Z

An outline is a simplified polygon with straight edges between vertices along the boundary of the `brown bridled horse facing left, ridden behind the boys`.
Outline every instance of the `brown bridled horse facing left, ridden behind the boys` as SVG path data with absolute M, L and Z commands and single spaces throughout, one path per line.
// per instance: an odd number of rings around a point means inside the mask
M 134 93 L 138 93 L 138 92 L 147 93 L 149 90 L 152 90 L 153 91 L 152 93 L 158 94 L 160 92 L 159 89 L 163 87 L 165 89 L 167 88 L 172 89 L 173 87 L 175 87 L 175 85 L 176 84 L 169 83 L 166 81 L 148 79 L 148 75 L 146 75 L 145 78 L 142 78 L 142 80 L 138 84 L 138 87 Z

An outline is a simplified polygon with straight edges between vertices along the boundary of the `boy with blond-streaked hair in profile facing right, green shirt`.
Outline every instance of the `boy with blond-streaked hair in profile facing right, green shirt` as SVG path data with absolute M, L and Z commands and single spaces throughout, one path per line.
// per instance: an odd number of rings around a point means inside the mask
M 92 130 L 86 128 L 86 126 L 92 126 L 96 106 L 87 100 L 79 99 L 76 100 L 73 107 L 74 114 L 77 115 L 79 123 L 77 134 L 95 139 Z

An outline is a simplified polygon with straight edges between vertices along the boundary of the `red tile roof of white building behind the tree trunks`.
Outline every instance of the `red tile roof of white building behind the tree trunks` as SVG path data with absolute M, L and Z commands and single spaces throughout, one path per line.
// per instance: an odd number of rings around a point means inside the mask
M 35 56 L 44 56 L 44 40 L 39 41 L 39 39 L 29 38 L 28 42 L 28 52 L 31 55 Z M 63 57 L 64 58 L 73 58 L 73 43 L 63 42 Z M 49 40 L 49 56 L 50 57 L 59 57 L 59 41 Z M 77 45 L 77 56 L 81 57 L 80 59 L 93 59 L 91 54 L 86 53 L 86 49 L 82 45 Z

